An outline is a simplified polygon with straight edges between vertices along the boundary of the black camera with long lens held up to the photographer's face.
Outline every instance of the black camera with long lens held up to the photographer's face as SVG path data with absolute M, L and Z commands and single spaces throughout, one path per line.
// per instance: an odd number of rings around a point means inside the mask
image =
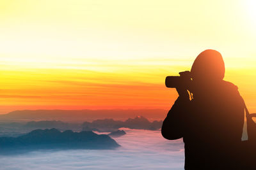
M 168 88 L 188 87 L 191 82 L 191 73 L 183 71 L 179 73 L 180 76 L 166 76 L 165 85 Z

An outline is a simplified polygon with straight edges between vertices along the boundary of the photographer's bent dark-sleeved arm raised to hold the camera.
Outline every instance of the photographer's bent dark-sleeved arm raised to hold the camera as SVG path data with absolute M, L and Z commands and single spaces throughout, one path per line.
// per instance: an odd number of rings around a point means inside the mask
M 172 106 L 172 109 L 168 112 L 167 117 L 164 119 L 162 125 L 162 136 L 169 140 L 175 140 L 182 138 L 184 136 L 184 126 L 186 125 L 185 113 L 189 107 L 189 96 L 188 92 L 180 92 L 180 97 L 175 101 Z

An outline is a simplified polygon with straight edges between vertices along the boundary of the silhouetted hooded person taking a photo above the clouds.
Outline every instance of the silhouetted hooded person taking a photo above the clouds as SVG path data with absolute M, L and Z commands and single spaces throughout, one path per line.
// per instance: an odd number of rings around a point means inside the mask
M 191 67 L 189 85 L 176 88 L 179 97 L 164 119 L 162 135 L 183 138 L 185 169 L 241 168 L 244 105 L 236 85 L 224 81 L 224 74 L 221 54 L 205 50 Z

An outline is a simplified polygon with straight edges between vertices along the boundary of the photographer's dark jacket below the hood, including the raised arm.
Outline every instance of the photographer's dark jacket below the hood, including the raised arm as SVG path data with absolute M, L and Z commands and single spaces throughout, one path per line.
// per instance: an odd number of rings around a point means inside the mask
M 221 81 L 204 87 L 193 99 L 178 99 L 164 119 L 166 139 L 183 138 L 185 169 L 238 167 L 244 105 L 237 87 Z

